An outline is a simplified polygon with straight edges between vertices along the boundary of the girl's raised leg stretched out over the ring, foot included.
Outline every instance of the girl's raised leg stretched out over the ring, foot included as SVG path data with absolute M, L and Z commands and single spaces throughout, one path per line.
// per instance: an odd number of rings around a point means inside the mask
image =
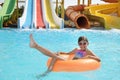
M 32 34 L 30 34 L 30 47 L 37 49 L 38 51 L 40 51 L 41 53 L 43 53 L 46 56 L 49 56 L 49 57 L 52 57 L 52 58 L 61 59 L 61 60 L 65 60 L 64 58 L 62 58 L 60 56 L 57 56 L 56 54 L 52 53 L 51 51 L 49 51 L 49 50 L 43 48 L 42 46 L 38 45 L 34 41 Z

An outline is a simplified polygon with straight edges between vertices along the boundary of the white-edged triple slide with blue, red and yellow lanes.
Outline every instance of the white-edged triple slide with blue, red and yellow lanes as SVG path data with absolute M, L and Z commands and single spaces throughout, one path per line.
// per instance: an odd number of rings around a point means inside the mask
M 51 0 L 26 0 L 23 15 L 18 20 L 20 28 L 61 28 L 63 20 L 52 9 Z M 43 15 L 44 14 L 44 15 Z

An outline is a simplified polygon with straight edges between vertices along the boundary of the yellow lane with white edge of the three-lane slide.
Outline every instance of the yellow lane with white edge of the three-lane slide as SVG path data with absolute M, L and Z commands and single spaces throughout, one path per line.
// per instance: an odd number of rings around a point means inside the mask
M 55 10 L 52 7 L 52 0 L 44 0 L 46 20 L 49 23 L 49 28 L 60 29 L 63 27 L 63 20 L 58 18 L 55 14 Z

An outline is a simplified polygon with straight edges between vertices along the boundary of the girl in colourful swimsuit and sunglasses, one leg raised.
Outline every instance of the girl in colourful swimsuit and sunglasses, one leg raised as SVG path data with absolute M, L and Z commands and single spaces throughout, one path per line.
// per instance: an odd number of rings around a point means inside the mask
M 35 42 L 35 40 L 33 39 L 32 34 L 30 34 L 30 47 L 37 49 L 38 51 L 40 51 L 41 53 L 43 53 L 46 56 L 52 57 L 52 62 L 49 65 L 48 70 L 41 76 L 46 75 L 48 72 L 50 72 L 53 69 L 54 63 L 57 59 L 67 60 L 67 59 L 61 57 L 59 54 L 68 54 L 68 55 L 75 54 L 73 59 L 91 58 L 91 59 L 95 59 L 98 62 L 100 62 L 100 59 L 92 51 L 90 51 L 87 48 L 88 44 L 89 44 L 88 39 L 84 36 L 80 36 L 78 39 L 79 48 L 75 48 L 68 53 L 66 53 L 66 52 L 53 53 L 53 52 L 47 50 L 46 48 L 43 48 L 42 46 L 38 45 Z

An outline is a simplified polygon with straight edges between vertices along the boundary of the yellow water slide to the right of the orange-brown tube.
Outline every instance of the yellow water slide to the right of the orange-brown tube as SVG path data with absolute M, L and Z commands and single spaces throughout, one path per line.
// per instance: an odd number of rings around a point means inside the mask
M 91 15 L 104 19 L 106 29 L 120 29 L 119 3 L 98 4 L 87 7 Z

